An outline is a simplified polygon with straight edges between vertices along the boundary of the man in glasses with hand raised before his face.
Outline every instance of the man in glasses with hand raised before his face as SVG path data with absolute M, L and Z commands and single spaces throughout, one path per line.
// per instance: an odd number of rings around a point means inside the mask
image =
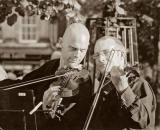
M 109 78 L 111 83 L 102 90 L 92 129 L 154 130 L 154 93 L 135 69 L 124 71 L 127 63 L 122 42 L 110 36 L 98 39 L 93 58 L 98 81 L 106 73 L 106 80 Z

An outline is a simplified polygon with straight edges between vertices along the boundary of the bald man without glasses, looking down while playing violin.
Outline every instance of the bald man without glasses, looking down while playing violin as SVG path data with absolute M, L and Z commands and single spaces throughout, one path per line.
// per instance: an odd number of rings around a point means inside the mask
M 83 69 L 81 63 L 86 55 L 89 39 L 89 31 L 83 24 L 73 23 L 69 25 L 62 38 L 62 52 L 60 59 L 51 60 L 45 63 L 39 69 L 27 74 L 22 81 L 54 75 L 67 68 L 81 71 Z M 57 79 L 54 82 L 56 81 Z M 43 101 L 43 110 L 52 109 L 55 103 L 55 96 L 59 94 L 60 88 L 62 87 L 60 85 L 55 85 L 54 82 L 45 81 L 27 86 L 27 88 L 34 89 L 36 104 Z M 61 115 L 63 115 L 63 117 L 60 119 L 60 116 L 55 115 L 54 112 L 47 113 L 47 116 L 49 115 L 48 119 L 44 116 L 40 117 L 41 119 L 40 123 L 38 123 L 38 127 L 40 127 L 41 130 L 78 130 L 82 127 L 84 118 L 87 115 L 87 107 L 89 107 L 91 80 L 86 77 L 83 82 L 77 83 L 72 79 L 69 80 L 67 86 L 69 89 L 65 88 L 65 92 L 69 93 L 70 97 L 67 97 L 65 95 L 66 93 L 63 94 L 63 92 L 61 94 L 64 96 L 60 95 L 60 98 L 62 98 L 61 105 L 63 105 Z M 60 98 L 57 100 L 59 101 Z

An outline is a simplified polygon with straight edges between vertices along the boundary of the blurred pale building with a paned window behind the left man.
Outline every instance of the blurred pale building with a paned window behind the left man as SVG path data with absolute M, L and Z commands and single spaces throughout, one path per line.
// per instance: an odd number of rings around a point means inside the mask
M 51 24 L 39 16 L 18 17 L 12 27 L 0 24 L 0 64 L 12 78 L 39 67 L 51 58 L 65 26 L 64 18 Z

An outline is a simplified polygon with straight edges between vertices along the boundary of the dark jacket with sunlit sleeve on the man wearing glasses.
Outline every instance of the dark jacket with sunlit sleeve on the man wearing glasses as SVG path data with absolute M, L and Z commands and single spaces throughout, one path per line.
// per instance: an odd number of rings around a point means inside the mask
M 154 130 L 156 100 L 147 81 L 136 77 L 122 94 L 108 88 L 113 84 L 102 90 L 91 130 Z

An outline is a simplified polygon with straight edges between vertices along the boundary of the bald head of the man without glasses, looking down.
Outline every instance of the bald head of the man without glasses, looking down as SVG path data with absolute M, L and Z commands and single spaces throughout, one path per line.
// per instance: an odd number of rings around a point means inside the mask
M 62 40 L 62 61 L 63 65 L 76 68 L 84 59 L 88 44 L 89 31 L 80 24 L 71 24 L 65 31 Z

